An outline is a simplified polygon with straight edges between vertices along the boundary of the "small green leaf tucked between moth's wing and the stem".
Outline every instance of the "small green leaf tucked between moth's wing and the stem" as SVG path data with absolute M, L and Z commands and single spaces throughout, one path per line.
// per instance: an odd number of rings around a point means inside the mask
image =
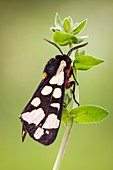
M 63 107 L 62 122 L 67 126 L 68 121 L 69 121 L 69 111 L 67 110 L 67 108 Z

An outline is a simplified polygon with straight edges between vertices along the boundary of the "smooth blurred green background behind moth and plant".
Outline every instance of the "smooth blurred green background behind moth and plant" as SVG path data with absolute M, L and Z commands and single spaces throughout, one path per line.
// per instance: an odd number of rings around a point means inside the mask
M 42 78 L 43 67 L 58 51 L 49 27 L 56 12 L 63 19 L 88 18 L 87 53 L 105 62 L 79 72 L 80 103 L 99 105 L 109 117 L 98 124 L 74 124 L 61 170 L 113 170 L 113 0 L 0 1 L 0 170 L 51 170 L 65 130 L 44 147 L 28 136 L 21 143 L 22 109 Z M 66 49 L 63 49 L 64 51 Z

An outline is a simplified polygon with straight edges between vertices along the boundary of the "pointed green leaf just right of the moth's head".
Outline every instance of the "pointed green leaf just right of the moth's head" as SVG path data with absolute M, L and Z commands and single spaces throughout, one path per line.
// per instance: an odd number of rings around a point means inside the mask
M 74 67 L 76 67 L 77 70 L 88 70 L 102 62 L 104 61 L 98 58 L 83 55 L 75 58 Z

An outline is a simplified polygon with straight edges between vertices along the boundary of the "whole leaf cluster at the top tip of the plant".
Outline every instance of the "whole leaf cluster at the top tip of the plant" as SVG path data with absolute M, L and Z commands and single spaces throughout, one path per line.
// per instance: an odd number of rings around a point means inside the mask
M 73 24 L 71 17 L 64 18 L 62 21 L 57 13 L 55 16 L 55 27 L 50 28 L 54 31 L 53 41 L 60 46 L 82 42 L 88 36 L 77 36 L 77 34 L 84 29 L 86 23 L 87 19 L 80 23 Z

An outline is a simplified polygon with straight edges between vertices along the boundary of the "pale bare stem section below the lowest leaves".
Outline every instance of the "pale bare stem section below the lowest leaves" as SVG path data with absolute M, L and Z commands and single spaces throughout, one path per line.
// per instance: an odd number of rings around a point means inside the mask
M 61 143 L 61 146 L 60 146 L 54 167 L 53 167 L 53 170 L 58 170 L 59 167 L 60 167 L 64 152 L 66 150 L 66 146 L 67 146 L 67 143 L 68 143 L 68 139 L 69 139 L 69 135 L 70 135 L 72 125 L 73 125 L 73 118 L 70 117 L 70 119 L 68 121 L 68 125 L 67 125 L 66 130 L 65 130 L 64 137 L 62 139 L 62 143 Z

